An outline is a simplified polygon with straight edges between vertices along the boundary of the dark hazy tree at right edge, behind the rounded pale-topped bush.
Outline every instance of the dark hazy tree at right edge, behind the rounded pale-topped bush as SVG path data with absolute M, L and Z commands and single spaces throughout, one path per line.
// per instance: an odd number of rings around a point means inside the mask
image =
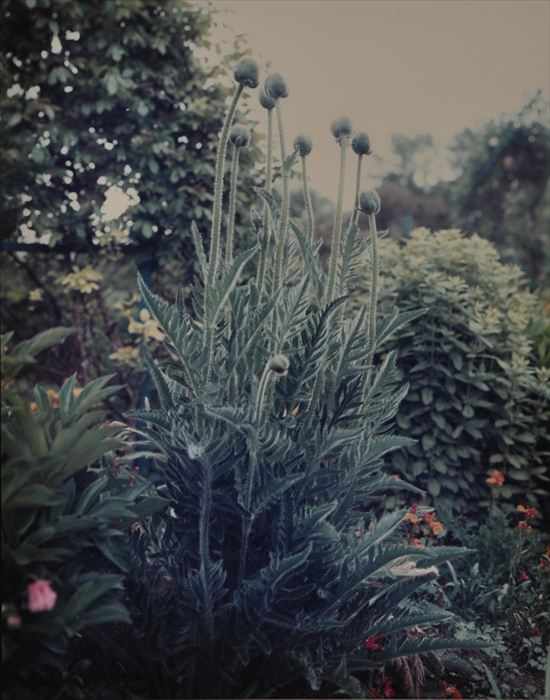
M 517 115 L 464 130 L 452 147 L 453 222 L 493 241 L 532 284 L 550 282 L 550 120 L 540 93 Z

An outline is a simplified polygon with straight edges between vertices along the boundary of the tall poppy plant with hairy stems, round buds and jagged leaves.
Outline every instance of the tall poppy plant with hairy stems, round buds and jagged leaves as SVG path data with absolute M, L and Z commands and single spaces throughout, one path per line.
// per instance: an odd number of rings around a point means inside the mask
M 398 385 L 395 354 L 372 363 L 376 343 L 406 319 L 395 314 L 377 329 L 376 284 L 370 313 L 350 320 L 341 313 L 364 250 L 355 216 L 342 231 L 342 186 L 328 273 L 313 242 L 311 207 L 305 230 L 289 221 L 288 173 L 298 157 L 309 197 L 307 141 L 297 139 L 302 150 L 288 156 L 287 89 L 278 74 L 266 79 L 261 97 L 269 138 L 264 212 L 253 215 L 258 244 L 234 260 L 230 245 L 222 254 L 228 135 L 244 86 L 257 84 L 255 64 L 237 66 L 235 78 L 208 255 L 194 229 L 203 282 L 194 314 L 181 298 L 167 303 L 139 280 L 171 357 L 163 366 L 148 360 L 158 404 L 132 415 L 139 441 L 157 454 L 171 508 L 137 537 L 131 585 L 140 614 L 136 636 L 120 646 L 141 651 L 116 658 L 146 694 L 259 696 L 285 686 L 304 692 L 307 682 L 314 692 L 326 683 L 363 695 L 354 674 L 468 646 L 437 631 L 449 615 L 419 593 L 437 564 L 465 550 L 409 546 L 398 531 L 404 511 L 373 515 L 375 498 L 407 488 L 382 469 L 385 454 L 411 444 L 391 429 L 406 387 Z M 273 113 L 280 206 L 271 195 Z M 349 120 L 335 122 L 333 134 L 342 185 Z M 355 140 L 354 150 L 359 159 L 366 154 Z M 232 177 L 230 203 L 237 185 Z M 363 193 L 357 205 L 368 214 L 375 258 L 378 197 Z M 227 226 L 229 241 L 231 207 Z M 239 284 L 254 259 L 256 277 Z M 418 637 L 413 627 L 431 633 Z

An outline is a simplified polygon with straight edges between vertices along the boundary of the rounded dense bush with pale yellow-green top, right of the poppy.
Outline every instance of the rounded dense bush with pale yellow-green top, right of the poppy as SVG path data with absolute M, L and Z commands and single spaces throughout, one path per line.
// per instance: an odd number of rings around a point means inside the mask
M 392 467 L 443 514 L 520 496 L 537 505 L 549 480 L 550 392 L 532 360 L 537 299 L 521 272 L 478 236 L 427 229 L 402 244 L 381 241 L 380 269 L 382 317 L 426 310 L 387 346 L 411 385 L 397 424 L 418 441 L 393 453 Z M 366 265 L 362 303 L 369 275 Z

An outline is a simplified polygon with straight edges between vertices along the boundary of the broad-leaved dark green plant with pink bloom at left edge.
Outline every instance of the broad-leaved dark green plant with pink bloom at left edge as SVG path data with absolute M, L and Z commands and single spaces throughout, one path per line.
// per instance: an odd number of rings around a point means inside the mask
M 77 387 L 73 376 L 59 391 L 38 385 L 33 402 L 15 385 L 25 365 L 72 332 L 52 329 L 12 348 L 11 334 L 2 336 L 3 676 L 17 697 L 76 682 L 67 677 L 69 641 L 91 626 L 130 621 L 122 536 L 162 505 L 142 497 L 145 482 L 126 488 L 105 468 L 86 472 L 123 445 L 122 424 L 105 422 L 99 407 L 119 389 L 107 386 L 110 377 Z

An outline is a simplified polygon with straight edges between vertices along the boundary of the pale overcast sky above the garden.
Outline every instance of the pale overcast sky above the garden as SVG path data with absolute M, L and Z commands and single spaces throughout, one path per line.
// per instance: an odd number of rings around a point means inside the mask
M 201 0 L 196 0 L 201 2 Z M 287 140 L 314 140 L 311 179 L 333 196 L 330 122 L 349 116 L 387 162 L 392 133 L 465 127 L 550 97 L 547 0 L 213 0 L 262 68 L 282 73 Z M 265 70 L 263 72 L 265 76 Z M 258 111 L 258 118 L 264 116 Z M 348 183 L 351 197 L 351 173 Z M 368 181 L 367 183 L 368 184 Z

